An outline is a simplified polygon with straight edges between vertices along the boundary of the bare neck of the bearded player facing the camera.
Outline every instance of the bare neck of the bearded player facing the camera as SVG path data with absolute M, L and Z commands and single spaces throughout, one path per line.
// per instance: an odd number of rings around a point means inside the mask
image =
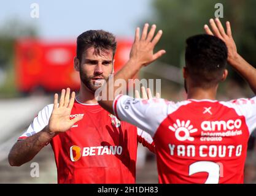
M 82 82 L 80 83 L 79 94 L 77 100 L 82 104 L 98 104 L 95 99 L 95 92 L 90 91 Z

